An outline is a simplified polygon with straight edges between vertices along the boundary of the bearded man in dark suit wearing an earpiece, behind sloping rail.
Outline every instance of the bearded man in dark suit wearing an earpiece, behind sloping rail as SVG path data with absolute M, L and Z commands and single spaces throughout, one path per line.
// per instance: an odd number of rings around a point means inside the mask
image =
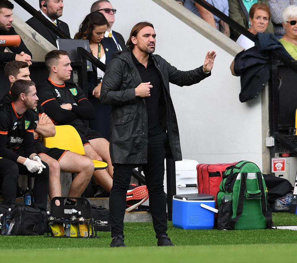
M 70 38 L 68 25 L 59 20 L 58 18 L 62 16 L 63 13 L 63 0 L 39 0 L 39 7 L 42 15 L 50 22 L 55 24 L 59 29 L 61 29 Z M 41 34 L 46 40 L 57 47 L 57 35 L 48 29 L 44 24 L 42 24 L 35 17 L 31 17 L 26 23 L 32 27 L 36 32 Z

